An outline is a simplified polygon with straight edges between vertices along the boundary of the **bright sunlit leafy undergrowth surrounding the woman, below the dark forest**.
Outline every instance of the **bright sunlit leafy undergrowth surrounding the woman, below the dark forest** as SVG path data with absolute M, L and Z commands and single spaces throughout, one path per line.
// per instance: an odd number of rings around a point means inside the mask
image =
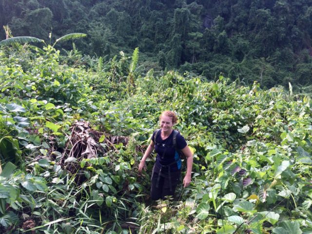
M 0 50 L 1 233 L 312 233 L 312 101 L 48 46 Z M 75 60 L 76 59 L 76 60 Z M 81 58 L 80 58 L 81 59 Z M 137 165 L 165 109 L 193 183 L 153 203 Z

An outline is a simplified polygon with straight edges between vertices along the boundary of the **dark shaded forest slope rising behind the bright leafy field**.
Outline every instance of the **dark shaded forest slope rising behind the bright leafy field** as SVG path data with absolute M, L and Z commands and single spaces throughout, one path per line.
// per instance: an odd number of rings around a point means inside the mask
M 51 28 L 86 33 L 78 49 L 104 61 L 139 47 L 145 71 L 312 93 L 312 0 L 0 0 L 2 25 L 46 41 Z

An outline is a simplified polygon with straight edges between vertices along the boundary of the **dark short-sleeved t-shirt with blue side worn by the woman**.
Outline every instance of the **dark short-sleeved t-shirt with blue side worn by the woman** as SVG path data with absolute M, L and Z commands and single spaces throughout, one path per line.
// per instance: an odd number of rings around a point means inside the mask
M 156 142 L 157 142 L 157 144 L 155 144 L 155 151 L 157 153 L 155 170 L 159 171 L 161 166 L 167 166 L 169 164 L 173 164 L 170 166 L 170 171 L 180 170 L 181 169 L 181 158 L 180 158 L 178 152 L 176 152 L 176 149 L 173 147 L 174 131 L 172 131 L 170 136 L 164 140 L 161 139 L 161 136 L 160 136 L 161 130 L 157 134 L 157 136 L 155 136 L 156 133 L 157 133 L 157 131 L 155 131 L 153 133 L 153 136 L 152 136 L 152 141 L 155 143 L 155 137 L 156 137 Z M 180 133 L 178 133 L 176 135 L 176 148 L 178 150 L 181 150 L 185 146 L 187 146 L 187 143 L 186 143 L 184 137 L 182 137 L 180 135 Z M 176 163 L 173 163 L 173 162 L 176 162 Z M 166 171 L 166 167 L 163 168 L 162 171 L 163 170 Z

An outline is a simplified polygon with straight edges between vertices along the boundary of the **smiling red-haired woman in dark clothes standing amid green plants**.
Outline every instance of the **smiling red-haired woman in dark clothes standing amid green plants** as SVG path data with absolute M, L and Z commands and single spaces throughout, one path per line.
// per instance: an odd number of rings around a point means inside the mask
M 165 199 L 167 195 L 174 195 L 181 173 L 181 158 L 178 151 L 186 156 L 187 171 L 183 179 L 184 187 L 191 183 L 193 166 L 193 154 L 185 139 L 172 129 L 177 122 L 176 114 L 173 111 L 164 111 L 159 120 L 160 129 L 153 133 L 151 143 L 138 166 L 138 171 L 141 172 L 145 166 L 146 158 L 155 148 L 157 157 L 153 168 L 151 186 L 151 198 L 153 200 Z

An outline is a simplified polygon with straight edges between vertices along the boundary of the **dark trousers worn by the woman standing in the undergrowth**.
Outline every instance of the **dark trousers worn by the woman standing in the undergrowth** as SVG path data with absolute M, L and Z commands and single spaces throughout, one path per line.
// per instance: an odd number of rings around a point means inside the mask
M 151 198 L 153 200 L 158 199 L 166 199 L 165 196 L 175 195 L 176 186 L 180 181 L 181 170 L 170 172 L 170 176 L 168 171 L 162 171 L 160 173 L 156 172 L 155 167 L 153 168 L 152 174 L 152 185 L 151 185 Z M 171 178 L 169 178 L 171 177 Z M 171 183 L 170 183 L 171 180 Z M 157 186 L 158 181 L 158 186 Z M 170 188 L 171 187 L 171 188 Z

